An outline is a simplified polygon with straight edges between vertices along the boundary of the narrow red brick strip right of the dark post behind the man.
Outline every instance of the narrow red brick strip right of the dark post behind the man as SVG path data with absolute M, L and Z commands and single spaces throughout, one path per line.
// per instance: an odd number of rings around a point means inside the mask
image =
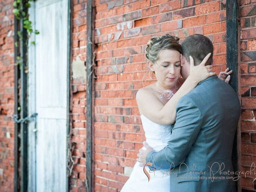
M 242 170 L 250 171 L 252 163 L 256 163 L 256 1 L 240 1 L 241 16 L 241 164 Z M 254 166 L 253 166 L 254 167 Z M 256 174 L 242 177 L 242 188 L 256 191 L 256 182 L 252 181 Z

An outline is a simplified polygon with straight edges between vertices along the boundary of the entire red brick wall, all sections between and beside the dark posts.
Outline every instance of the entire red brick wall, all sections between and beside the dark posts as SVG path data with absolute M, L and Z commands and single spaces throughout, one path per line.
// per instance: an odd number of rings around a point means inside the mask
M 12 1 L 0 0 L 0 191 L 13 191 L 14 41 Z M 195 4 L 193 4 L 195 2 Z M 225 0 L 96 0 L 95 191 L 120 191 L 145 139 L 135 95 L 152 35 L 204 34 L 214 43 L 214 70 L 226 68 Z M 242 170 L 256 162 L 255 0 L 240 1 Z M 85 191 L 86 1 L 72 0 L 72 142 L 70 191 Z M 148 79 L 146 77 L 145 79 Z M 145 82 L 144 86 L 152 81 Z M 252 177 L 242 188 L 255 191 Z

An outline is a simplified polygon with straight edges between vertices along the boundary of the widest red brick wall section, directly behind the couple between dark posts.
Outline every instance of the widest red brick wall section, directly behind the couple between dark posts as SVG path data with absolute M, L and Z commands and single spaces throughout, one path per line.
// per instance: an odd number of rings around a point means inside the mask
M 95 24 L 95 191 L 119 191 L 145 140 L 135 96 L 146 43 L 152 35 L 204 34 L 219 73 L 226 68 L 226 10 L 220 0 L 96 0 Z

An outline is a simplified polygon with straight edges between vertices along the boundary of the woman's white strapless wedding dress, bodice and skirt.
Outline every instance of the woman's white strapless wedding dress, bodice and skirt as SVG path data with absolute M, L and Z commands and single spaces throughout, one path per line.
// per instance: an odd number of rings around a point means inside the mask
M 160 125 L 150 121 L 144 115 L 140 116 L 142 126 L 145 131 L 146 142 L 155 150 L 163 149 L 170 139 L 171 125 Z M 142 149 L 145 150 L 143 147 Z M 156 168 L 158 169 L 158 168 Z M 159 168 L 161 169 L 161 168 Z M 168 170 L 156 170 L 150 172 L 146 166 L 147 172 L 150 174 L 150 180 L 143 172 L 143 167 L 136 162 L 130 178 L 124 184 L 121 192 L 169 192 L 170 191 L 170 175 Z

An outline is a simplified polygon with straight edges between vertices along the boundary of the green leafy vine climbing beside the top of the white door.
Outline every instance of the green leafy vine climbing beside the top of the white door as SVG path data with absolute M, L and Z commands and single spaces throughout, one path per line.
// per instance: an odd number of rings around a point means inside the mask
M 29 14 L 28 14 L 28 9 L 30 8 L 31 2 L 32 0 L 15 0 L 13 2 L 13 6 L 14 6 L 14 9 L 13 9 L 13 13 L 14 15 L 16 16 L 17 20 L 19 21 L 22 21 L 22 26 L 24 29 L 26 29 L 27 31 L 27 38 L 26 38 L 26 47 L 28 48 L 28 39 L 30 38 L 30 36 L 34 33 L 36 35 L 39 34 L 39 31 L 38 30 L 33 30 L 32 28 L 32 22 L 29 20 Z M 22 30 L 23 29 L 20 29 L 17 31 L 17 35 L 18 35 L 18 40 L 16 42 L 14 42 L 14 45 L 15 47 L 18 47 L 19 44 L 18 42 L 21 42 L 23 40 L 23 37 L 22 37 Z M 32 41 L 31 42 L 32 45 L 35 45 L 35 42 Z M 22 57 L 21 56 L 17 56 L 16 58 L 16 65 L 19 66 L 19 68 L 21 67 L 21 64 L 22 64 Z M 25 68 L 25 73 L 28 73 L 28 65 L 26 64 L 26 66 L 24 66 Z

